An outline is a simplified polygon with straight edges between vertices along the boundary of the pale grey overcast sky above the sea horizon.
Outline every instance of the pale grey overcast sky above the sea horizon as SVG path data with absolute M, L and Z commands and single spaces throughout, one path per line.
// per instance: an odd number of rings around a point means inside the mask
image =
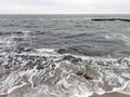
M 0 0 L 0 14 L 130 14 L 130 0 Z

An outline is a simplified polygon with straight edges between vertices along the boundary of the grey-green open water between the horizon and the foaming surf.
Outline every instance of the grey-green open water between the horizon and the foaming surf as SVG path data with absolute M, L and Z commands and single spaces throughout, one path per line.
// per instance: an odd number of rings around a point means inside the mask
M 0 16 L 1 51 L 64 48 L 65 53 L 86 56 L 129 56 L 130 23 L 92 22 L 95 17 L 99 16 Z

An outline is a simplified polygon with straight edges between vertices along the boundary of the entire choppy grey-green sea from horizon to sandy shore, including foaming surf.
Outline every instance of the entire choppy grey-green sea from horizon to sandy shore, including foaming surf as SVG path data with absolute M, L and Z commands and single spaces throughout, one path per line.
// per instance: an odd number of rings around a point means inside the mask
M 0 95 L 130 95 L 130 15 L 0 15 Z

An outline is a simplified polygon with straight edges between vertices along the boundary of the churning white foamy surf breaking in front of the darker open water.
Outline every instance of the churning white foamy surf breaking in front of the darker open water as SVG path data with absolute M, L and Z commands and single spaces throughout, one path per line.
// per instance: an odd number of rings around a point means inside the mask
M 89 97 L 130 91 L 130 58 L 58 54 L 55 50 L 2 53 L 0 94 L 9 97 Z

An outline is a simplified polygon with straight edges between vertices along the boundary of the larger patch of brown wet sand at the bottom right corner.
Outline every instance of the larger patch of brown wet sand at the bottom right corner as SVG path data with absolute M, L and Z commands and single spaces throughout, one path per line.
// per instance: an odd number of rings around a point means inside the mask
M 125 95 L 125 94 L 121 94 L 121 93 L 106 93 L 106 94 L 103 94 L 103 95 L 93 94 L 90 97 L 130 97 L 130 95 Z

